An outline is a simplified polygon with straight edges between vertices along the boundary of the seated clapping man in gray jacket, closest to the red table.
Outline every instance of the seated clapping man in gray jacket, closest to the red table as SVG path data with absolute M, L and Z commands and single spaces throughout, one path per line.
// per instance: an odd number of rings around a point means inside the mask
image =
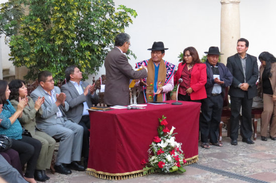
M 82 72 L 76 65 L 71 65 L 65 70 L 67 83 L 61 86 L 61 91 L 66 94 L 69 110 L 65 112 L 68 119 L 83 127 L 82 156 L 83 165 L 87 167 L 89 154 L 90 119 L 88 108 L 99 102 L 95 91 L 95 84 L 82 82 Z

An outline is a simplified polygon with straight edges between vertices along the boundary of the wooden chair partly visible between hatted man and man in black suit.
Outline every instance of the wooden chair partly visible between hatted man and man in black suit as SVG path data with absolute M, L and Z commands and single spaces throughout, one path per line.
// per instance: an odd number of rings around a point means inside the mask
M 224 91 L 224 99 L 223 99 L 223 109 L 221 113 L 221 119 L 219 124 L 219 141 L 222 140 L 222 127 L 226 125 L 227 128 L 227 137 L 230 136 L 230 116 L 231 116 L 231 109 L 229 107 L 229 100 L 228 100 L 228 87 L 225 87 Z

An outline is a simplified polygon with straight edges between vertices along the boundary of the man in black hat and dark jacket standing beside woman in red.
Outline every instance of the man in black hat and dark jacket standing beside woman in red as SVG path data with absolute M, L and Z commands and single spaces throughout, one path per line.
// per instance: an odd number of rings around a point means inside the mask
M 216 146 L 223 146 L 218 141 L 218 128 L 222 112 L 224 89 L 232 83 L 232 74 L 229 69 L 223 64 L 218 62 L 219 48 L 211 46 L 207 53 L 206 71 L 207 82 L 205 84 L 207 98 L 202 100 L 201 105 L 201 118 L 199 122 L 201 146 L 209 148 L 208 136 L 210 135 L 210 144 Z

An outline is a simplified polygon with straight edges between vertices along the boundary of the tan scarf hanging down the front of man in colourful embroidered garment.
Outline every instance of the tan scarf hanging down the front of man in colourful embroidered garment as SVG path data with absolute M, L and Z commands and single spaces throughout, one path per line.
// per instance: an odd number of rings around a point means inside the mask
M 155 77 L 155 66 L 152 58 L 148 61 L 148 77 L 147 77 L 147 100 L 148 102 L 154 101 L 154 77 Z M 164 86 L 166 80 L 167 68 L 165 66 L 165 62 L 161 59 L 159 63 L 159 70 L 158 70 L 158 79 L 157 79 L 157 89 L 158 87 Z M 157 95 L 157 101 L 163 101 L 163 94 L 159 93 Z

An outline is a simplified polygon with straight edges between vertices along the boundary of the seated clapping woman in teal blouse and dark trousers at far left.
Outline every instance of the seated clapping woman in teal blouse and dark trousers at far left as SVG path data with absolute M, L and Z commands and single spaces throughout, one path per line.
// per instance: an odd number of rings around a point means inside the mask
M 3 104 L 3 111 L 0 113 L 0 134 L 5 134 L 13 140 L 12 147 L 18 151 L 21 165 L 27 163 L 24 178 L 29 182 L 36 182 L 34 172 L 37 159 L 41 149 L 41 142 L 35 138 L 22 135 L 22 126 L 17 119 L 22 116 L 22 111 L 27 105 L 27 98 L 19 98 L 17 110 L 9 100 L 10 89 L 6 80 L 0 80 L 0 104 Z

